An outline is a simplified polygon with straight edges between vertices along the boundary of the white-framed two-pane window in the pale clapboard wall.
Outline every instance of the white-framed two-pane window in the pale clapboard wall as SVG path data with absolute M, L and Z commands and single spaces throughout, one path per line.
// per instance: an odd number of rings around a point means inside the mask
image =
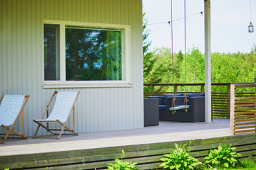
M 44 23 L 44 86 L 129 85 L 128 28 Z

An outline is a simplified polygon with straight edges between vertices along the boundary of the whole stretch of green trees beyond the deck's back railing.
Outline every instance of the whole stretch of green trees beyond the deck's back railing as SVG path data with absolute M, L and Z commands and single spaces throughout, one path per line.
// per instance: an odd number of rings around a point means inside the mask
M 157 48 L 154 52 L 154 64 L 151 66 L 149 79 L 144 79 L 144 83 L 173 83 L 185 82 L 185 61 L 184 55 L 180 52 L 174 53 L 174 70 L 171 62 L 171 49 L 168 47 Z M 205 82 L 205 57 L 197 47 L 188 50 L 186 54 L 186 83 Z M 250 53 L 211 54 L 211 79 L 213 83 L 252 83 L 256 75 L 256 47 Z M 172 88 L 162 87 L 155 91 L 172 91 Z M 186 91 L 197 91 L 197 87 L 187 86 Z M 182 91 L 183 89 L 178 89 Z M 253 89 L 251 89 L 253 90 Z M 213 86 L 212 91 L 226 92 L 225 86 Z M 239 89 L 237 92 L 253 92 L 250 89 Z

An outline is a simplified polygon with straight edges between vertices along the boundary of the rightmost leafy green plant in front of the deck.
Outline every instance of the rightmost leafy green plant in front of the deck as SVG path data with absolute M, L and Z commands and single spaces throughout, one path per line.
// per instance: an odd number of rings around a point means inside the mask
M 229 168 L 230 166 L 234 167 L 235 162 L 237 162 L 235 157 L 242 156 L 241 154 L 234 152 L 235 149 L 236 147 L 232 147 L 232 145 L 224 145 L 222 143 L 218 146 L 218 149 L 210 149 L 208 157 L 205 157 L 205 164 L 218 169 Z

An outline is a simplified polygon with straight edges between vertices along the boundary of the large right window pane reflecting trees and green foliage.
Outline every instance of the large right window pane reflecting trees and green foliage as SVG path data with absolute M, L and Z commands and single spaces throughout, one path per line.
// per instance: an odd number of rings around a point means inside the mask
M 66 80 L 122 80 L 122 30 L 65 28 Z

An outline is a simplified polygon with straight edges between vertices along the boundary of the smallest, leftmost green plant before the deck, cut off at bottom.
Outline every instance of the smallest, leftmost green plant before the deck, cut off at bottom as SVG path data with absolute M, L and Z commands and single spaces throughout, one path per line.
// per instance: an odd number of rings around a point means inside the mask
M 122 159 L 124 158 L 124 150 L 122 150 L 122 158 L 121 159 L 114 159 L 114 164 L 110 163 L 107 166 L 109 170 L 139 170 L 137 169 L 137 163 L 132 162 L 123 162 Z

